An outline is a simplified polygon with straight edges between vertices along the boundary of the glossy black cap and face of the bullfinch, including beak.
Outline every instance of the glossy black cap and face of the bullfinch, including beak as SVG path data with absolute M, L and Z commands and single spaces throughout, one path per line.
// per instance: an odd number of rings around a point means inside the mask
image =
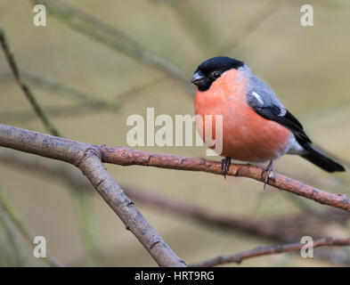
M 199 91 L 206 91 L 218 77 L 229 69 L 239 69 L 243 61 L 237 61 L 227 56 L 217 56 L 199 64 L 191 83 L 198 86 Z

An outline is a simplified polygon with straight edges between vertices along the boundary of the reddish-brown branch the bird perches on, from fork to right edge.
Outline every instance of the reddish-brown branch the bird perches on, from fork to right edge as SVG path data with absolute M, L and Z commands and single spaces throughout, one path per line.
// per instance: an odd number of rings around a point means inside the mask
M 136 151 L 126 147 L 102 146 L 102 161 L 122 166 L 141 165 L 148 167 L 172 168 L 179 170 L 202 171 L 222 175 L 220 162 L 206 159 L 186 158 L 177 155 Z M 263 169 L 253 165 L 232 164 L 227 175 L 255 179 L 264 183 Z M 346 194 L 333 194 L 312 186 L 300 183 L 284 175 L 275 175 L 275 181 L 269 179 L 268 184 L 283 191 L 289 191 L 298 196 L 342 208 L 350 212 L 350 199 Z

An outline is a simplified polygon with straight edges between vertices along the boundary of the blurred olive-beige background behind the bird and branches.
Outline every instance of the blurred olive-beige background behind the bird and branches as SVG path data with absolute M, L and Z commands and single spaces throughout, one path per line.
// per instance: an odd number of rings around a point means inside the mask
M 142 49 L 175 63 L 188 82 L 193 70 L 209 57 L 227 55 L 245 61 L 303 122 L 314 142 L 338 158 L 350 160 L 348 1 L 308 1 L 313 5 L 314 26 L 306 28 L 300 25 L 304 1 L 79 0 L 63 4 L 94 15 L 132 38 Z M 156 116 L 193 114 L 194 88 L 183 81 L 72 28 L 69 23 L 74 25 L 74 20 L 69 17 L 62 19 L 48 12 L 47 26 L 35 27 L 33 16 L 31 1 L 0 0 L 0 25 L 23 77 L 64 136 L 81 142 L 126 145 L 130 129 L 126 118 L 132 114 L 145 116 L 146 107 L 154 107 Z M 113 38 L 116 42 L 122 40 Z M 84 95 L 76 98 L 72 90 Z M 2 51 L 0 94 L 0 123 L 45 132 L 12 79 Z M 85 95 L 90 99 L 86 100 Z M 91 98 L 109 103 L 91 103 Z M 118 108 L 110 107 L 114 103 Z M 205 155 L 204 147 L 139 149 L 192 157 Z M 33 158 L 15 151 L 0 152 Z M 330 209 L 270 187 L 263 191 L 262 183 L 250 179 L 224 180 L 220 175 L 151 167 L 106 167 L 118 183 L 253 221 L 288 218 L 305 208 L 315 213 Z M 290 156 L 279 159 L 275 167 L 278 173 L 323 190 L 350 193 L 348 173 L 329 175 L 304 159 Z M 34 235 L 45 236 L 47 248 L 64 265 L 156 265 L 93 191 L 77 195 L 60 179 L 12 167 L 4 161 L 0 164 L 0 189 L 23 224 Z M 199 224 L 167 214 L 165 209 L 145 206 L 141 201 L 135 200 L 135 204 L 189 264 L 279 241 Z M 8 221 L 4 212 L 1 215 Z M 322 231 L 332 237 L 350 234 L 348 220 L 323 224 L 319 219 L 309 226 L 323 227 Z M 45 265 L 32 256 L 28 242 L 12 229 L 18 238 L 20 257 L 16 256 L 4 229 L 3 223 L 0 265 Z M 254 258 L 243 265 L 328 266 L 338 264 L 339 255 L 350 264 L 349 250 L 336 248 L 330 250 L 327 260 L 304 259 L 289 253 Z

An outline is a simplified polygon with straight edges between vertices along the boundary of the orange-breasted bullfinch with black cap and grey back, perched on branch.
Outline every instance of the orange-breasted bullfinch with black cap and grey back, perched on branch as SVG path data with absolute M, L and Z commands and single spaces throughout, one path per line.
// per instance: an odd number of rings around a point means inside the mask
M 211 58 L 199 64 L 191 82 L 198 87 L 195 114 L 201 116 L 203 122 L 206 115 L 223 116 L 224 175 L 231 159 L 270 161 L 264 172 L 267 183 L 270 175 L 274 178 L 273 160 L 286 153 L 300 155 L 328 172 L 345 171 L 313 147 L 297 118 L 244 62 L 224 56 Z

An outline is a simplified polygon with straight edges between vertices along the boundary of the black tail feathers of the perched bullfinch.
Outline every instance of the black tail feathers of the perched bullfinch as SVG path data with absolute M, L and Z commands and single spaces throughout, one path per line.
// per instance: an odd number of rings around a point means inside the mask
M 303 146 L 308 153 L 302 155 L 301 157 L 309 160 L 314 165 L 321 167 L 323 170 L 326 170 L 328 172 L 346 171 L 346 169 L 340 164 L 338 164 L 338 162 L 334 161 L 333 159 L 330 159 L 321 151 L 317 151 L 310 144 Z

